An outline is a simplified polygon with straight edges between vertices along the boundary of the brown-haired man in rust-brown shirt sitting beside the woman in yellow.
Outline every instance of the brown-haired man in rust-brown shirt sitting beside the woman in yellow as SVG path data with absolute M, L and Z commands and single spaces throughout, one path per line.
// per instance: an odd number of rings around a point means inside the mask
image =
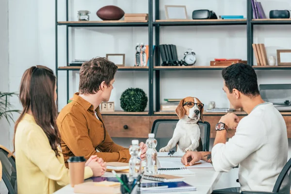
M 66 166 L 71 156 L 84 156 L 88 160 L 97 155 L 105 162 L 129 162 L 129 149 L 113 142 L 99 112 L 100 103 L 110 98 L 116 70 L 117 66 L 106 58 L 95 58 L 82 64 L 80 93 L 74 94 L 73 101 L 57 118 Z M 140 146 L 144 159 L 146 144 L 141 142 Z

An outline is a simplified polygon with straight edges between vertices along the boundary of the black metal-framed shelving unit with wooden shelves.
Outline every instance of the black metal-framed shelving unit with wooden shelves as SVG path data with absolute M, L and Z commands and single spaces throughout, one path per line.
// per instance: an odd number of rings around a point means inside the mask
M 253 9 L 251 0 L 246 0 L 246 19 L 201 19 L 201 20 L 162 20 L 161 10 L 160 10 L 160 0 L 148 0 L 148 20 L 147 21 L 124 21 L 124 20 L 109 20 L 109 21 L 68 21 L 68 7 L 69 1 L 66 1 L 66 21 L 58 21 L 57 13 L 57 0 L 56 3 L 56 16 L 55 16 L 55 24 L 56 24 L 56 75 L 58 76 L 58 71 L 66 71 L 66 83 L 67 83 L 67 97 L 69 97 L 68 86 L 69 86 L 69 71 L 78 71 L 80 66 L 71 66 L 69 64 L 69 30 L 74 27 L 146 27 L 148 31 L 148 45 L 149 45 L 149 53 L 153 53 L 152 49 L 155 45 L 155 53 L 154 56 L 149 55 L 148 59 L 148 67 L 132 67 L 132 66 L 124 66 L 118 67 L 118 71 L 146 71 L 148 73 L 148 112 L 147 115 L 163 115 L 166 113 L 159 112 L 160 108 L 160 73 L 161 71 L 167 70 L 222 70 L 226 66 L 210 66 L 209 64 L 200 64 L 204 66 L 199 66 L 196 64 L 194 66 L 158 66 L 160 65 L 160 30 L 163 26 L 218 26 L 225 25 L 226 32 L 232 28 L 232 26 L 242 25 L 245 26 L 246 30 L 246 43 L 247 43 L 247 63 L 249 65 L 253 64 L 254 52 L 252 48 L 253 44 L 253 36 L 254 36 L 254 28 L 256 25 L 290 25 L 291 19 L 253 19 Z M 155 15 L 155 18 L 153 18 Z M 66 63 L 62 65 L 58 65 L 58 28 L 66 28 Z M 183 32 L 181 32 L 183 34 Z M 213 32 L 215 34 L 215 32 Z M 155 59 L 155 61 L 154 61 Z M 64 65 L 68 65 L 65 66 Z M 198 66 L 197 66 L 198 65 Z M 255 70 L 291 70 L 291 65 L 282 65 L 282 66 L 253 66 Z M 154 91 L 155 90 L 155 91 Z M 155 107 L 155 110 L 154 110 Z M 120 115 L 120 113 L 105 113 L 110 115 Z M 126 115 L 127 113 L 124 113 Z M 143 113 L 144 114 L 144 113 Z

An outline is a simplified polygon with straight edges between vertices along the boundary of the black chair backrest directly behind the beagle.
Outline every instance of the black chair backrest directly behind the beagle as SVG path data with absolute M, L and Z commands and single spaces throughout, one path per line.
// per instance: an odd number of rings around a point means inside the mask
M 178 121 L 179 119 L 157 119 L 154 121 L 151 133 L 155 134 L 155 139 L 158 141 L 158 145 L 156 147 L 157 151 L 159 151 L 162 147 L 167 146 L 173 136 L 174 129 L 176 128 Z M 206 121 L 199 121 L 198 124 L 203 146 L 203 150 L 201 151 L 209 151 L 210 124 Z M 175 148 L 172 150 L 176 151 Z

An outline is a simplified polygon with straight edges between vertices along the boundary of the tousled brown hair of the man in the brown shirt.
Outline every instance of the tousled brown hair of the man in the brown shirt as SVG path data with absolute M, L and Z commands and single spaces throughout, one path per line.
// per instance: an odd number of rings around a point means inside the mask
M 88 62 L 84 62 L 80 69 L 80 94 L 95 94 L 99 90 L 102 81 L 110 86 L 117 71 L 117 66 L 107 58 L 93 58 Z

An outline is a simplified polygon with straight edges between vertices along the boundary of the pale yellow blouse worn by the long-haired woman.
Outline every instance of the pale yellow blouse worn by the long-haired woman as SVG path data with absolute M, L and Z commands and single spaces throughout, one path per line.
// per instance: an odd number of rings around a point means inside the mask
M 18 194 L 52 194 L 69 184 L 63 154 L 56 157 L 45 132 L 30 114 L 17 126 L 15 155 Z M 91 168 L 85 167 L 84 178 L 92 176 Z

